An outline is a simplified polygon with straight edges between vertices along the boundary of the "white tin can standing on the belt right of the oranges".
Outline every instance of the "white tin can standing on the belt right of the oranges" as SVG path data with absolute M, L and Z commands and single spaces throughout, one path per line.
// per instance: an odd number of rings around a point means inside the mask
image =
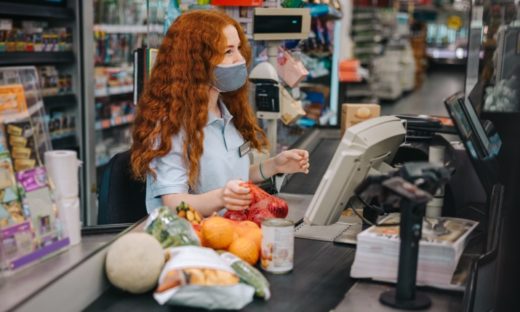
M 283 274 L 293 269 L 294 222 L 265 219 L 262 222 L 262 269 Z

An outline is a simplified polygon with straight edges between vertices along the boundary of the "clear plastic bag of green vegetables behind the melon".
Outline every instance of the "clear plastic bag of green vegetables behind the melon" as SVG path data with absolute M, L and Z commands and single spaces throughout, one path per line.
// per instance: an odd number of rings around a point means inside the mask
M 146 220 L 146 232 L 154 236 L 163 248 L 195 245 L 200 241 L 191 224 L 179 218 L 168 207 L 155 209 Z

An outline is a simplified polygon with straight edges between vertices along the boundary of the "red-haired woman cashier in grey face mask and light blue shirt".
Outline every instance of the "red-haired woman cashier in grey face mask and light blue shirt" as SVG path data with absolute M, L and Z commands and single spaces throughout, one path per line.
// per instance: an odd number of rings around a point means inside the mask
M 205 216 L 242 210 L 251 200 L 244 181 L 308 173 L 298 149 L 250 165 L 248 151 L 268 145 L 248 101 L 250 60 L 242 28 L 224 13 L 192 11 L 171 25 L 133 131 L 131 166 L 146 180 L 148 212 L 181 201 Z

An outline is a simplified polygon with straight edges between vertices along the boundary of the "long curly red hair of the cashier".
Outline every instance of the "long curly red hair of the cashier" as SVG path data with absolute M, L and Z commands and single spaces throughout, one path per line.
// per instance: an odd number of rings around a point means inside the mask
M 204 127 L 208 119 L 209 88 L 213 71 L 224 59 L 227 39 L 223 29 L 233 25 L 240 37 L 240 52 L 247 65 L 251 48 L 240 24 L 215 10 L 182 14 L 170 26 L 139 100 L 133 128 L 131 168 L 138 180 L 155 177 L 150 162 L 168 154 L 172 136 L 183 131 L 183 158 L 188 182 L 194 188 L 199 160 L 204 152 Z M 220 94 L 233 115 L 233 123 L 251 146 L 262 150 L 268 142 L 249 103 L 246 83 L 234 92 Z

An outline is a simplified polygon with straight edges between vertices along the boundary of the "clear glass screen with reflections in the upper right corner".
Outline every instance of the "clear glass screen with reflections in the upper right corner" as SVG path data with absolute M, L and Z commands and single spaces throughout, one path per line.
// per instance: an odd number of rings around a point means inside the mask
M 471 14 L 467 100 L 479 113 L 520 113 L 520 4 L 477 1 Z

